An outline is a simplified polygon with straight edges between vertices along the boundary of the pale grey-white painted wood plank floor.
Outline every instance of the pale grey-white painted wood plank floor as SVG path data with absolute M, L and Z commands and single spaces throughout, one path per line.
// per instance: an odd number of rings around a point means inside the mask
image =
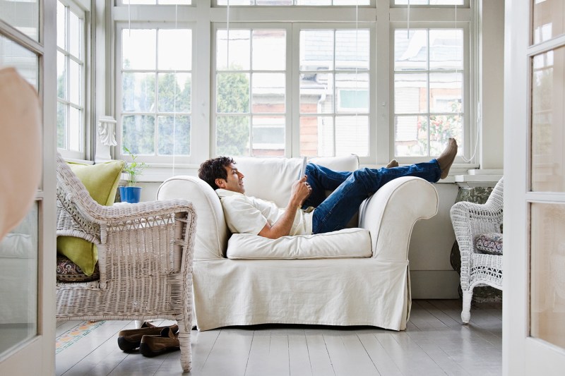
M 474 304 L 469 325 L 461 325 L 460 308 L 458 300 L 413 301 L 405 332 L 307 325 L 194 330 L 189 375 L 501 375 L 501 304 Z M 83 323 L 58 322 L 57 338 Z M 59 349 L 57 375 L 182 374 L 179 351 L 145 358 L 119 350 L 117 333 L 133 328 L 132 321 L 97 324 Z

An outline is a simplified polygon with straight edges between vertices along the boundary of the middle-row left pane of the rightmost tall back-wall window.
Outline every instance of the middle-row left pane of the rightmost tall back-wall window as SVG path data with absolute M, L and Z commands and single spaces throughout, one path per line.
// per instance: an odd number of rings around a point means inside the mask
M 427 112 L 427 75 L 394 75 L 394 111 L 396 114 Z

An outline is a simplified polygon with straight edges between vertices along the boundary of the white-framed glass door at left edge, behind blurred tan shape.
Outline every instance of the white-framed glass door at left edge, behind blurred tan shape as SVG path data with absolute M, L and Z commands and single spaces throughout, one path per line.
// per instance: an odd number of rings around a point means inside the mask
M 54 374 L 55 17 L 50 2 L 0 0 L 0 68 L 16 68 L 37 90 L 44 144 L 35 202 L 0 241 L 0 375 Z

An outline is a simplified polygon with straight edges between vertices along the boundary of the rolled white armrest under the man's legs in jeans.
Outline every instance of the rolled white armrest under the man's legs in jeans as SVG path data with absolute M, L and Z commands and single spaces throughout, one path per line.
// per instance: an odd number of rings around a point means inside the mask
M 371 232 L 373 257 L 408 260 L 414 224 L 434 217 L 438 202 L 436 188 L 416 177 L 396 178 L 365 200 L 359 208 L 359 227 Z

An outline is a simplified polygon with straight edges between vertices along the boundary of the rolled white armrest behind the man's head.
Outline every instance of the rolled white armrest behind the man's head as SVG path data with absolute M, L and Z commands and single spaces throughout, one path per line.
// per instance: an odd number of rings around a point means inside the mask
M 165 180 L 157 190 L 157 200 L 172 198 L 189 200 L 198 214 L 194 260 L 224 258 L 230 232 L 220 198 L 214 190 L 195 176 L 174 176 Z

